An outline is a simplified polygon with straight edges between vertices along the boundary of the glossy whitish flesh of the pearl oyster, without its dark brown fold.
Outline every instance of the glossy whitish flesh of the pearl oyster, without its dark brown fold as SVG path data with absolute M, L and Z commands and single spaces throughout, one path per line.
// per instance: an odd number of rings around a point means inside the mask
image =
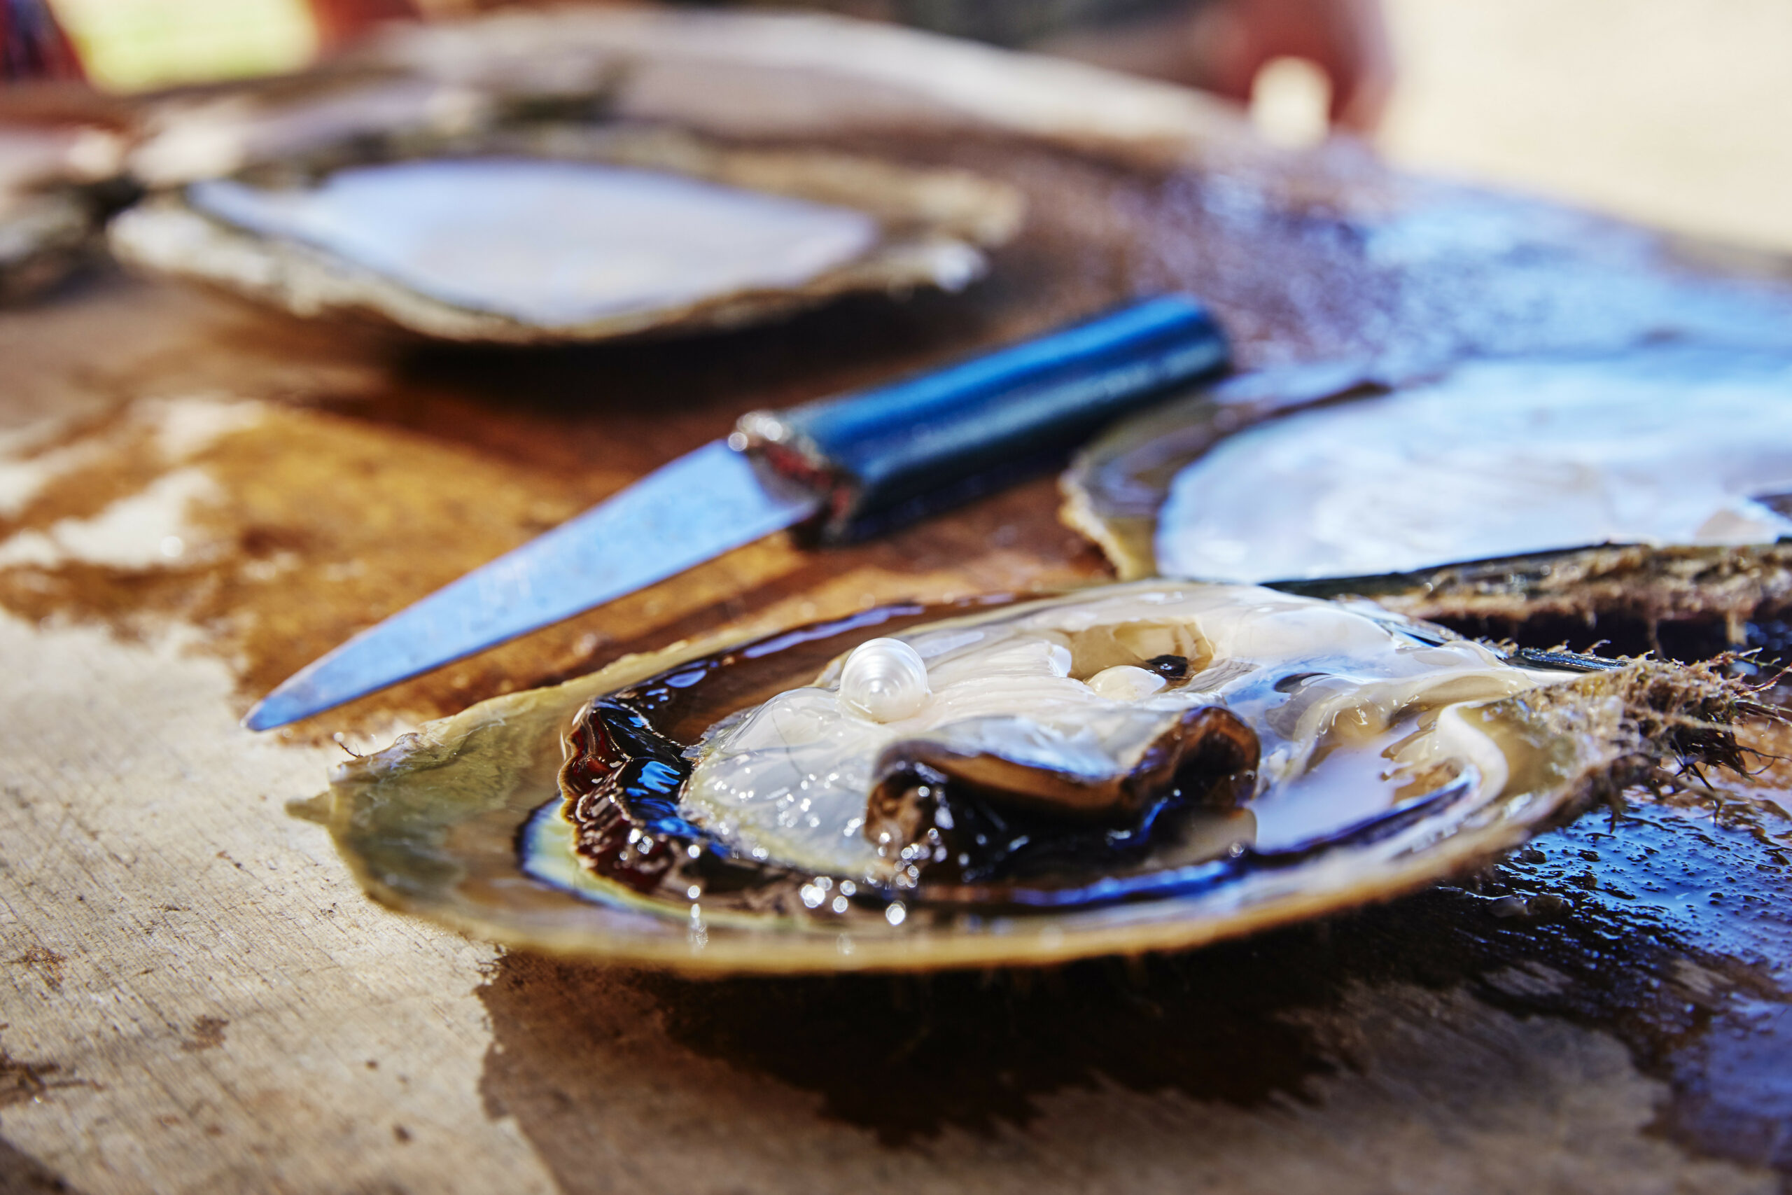
M 1453 781 L 1498 795 L 1507 758 L 1464 702 L 1545 679 L 1374 607 L 1247 586 L 1124 586 L 894 638 L 926 663 L 932 693 L 916 713 L 842 709 L 837 659 L 812 686 L 711 727 L 679 815 L 742 858 L 901 885 L 907 860 L 864 833 L 894 744 L 1097 781 L 1192 709 L 1220 708 L 1260 742 L 1244 838 L 1292 849 Z M 1176 683 L 1131 675 L 1174 658 L 1186 659 Z

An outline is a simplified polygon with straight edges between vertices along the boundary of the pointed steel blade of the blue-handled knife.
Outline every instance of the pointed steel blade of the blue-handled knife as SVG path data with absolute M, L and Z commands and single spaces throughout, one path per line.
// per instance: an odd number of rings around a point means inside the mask
M 821 500 L 762 475 L 722 441 L 656 469 L 306 665 L 244 717 L 297 722 L 572 618 L 774 530 Z

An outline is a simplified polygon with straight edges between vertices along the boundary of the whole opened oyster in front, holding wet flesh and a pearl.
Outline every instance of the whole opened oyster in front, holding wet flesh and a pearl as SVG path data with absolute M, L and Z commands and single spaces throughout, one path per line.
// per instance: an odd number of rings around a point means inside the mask
M 1550 672 L 1367 604 L 1152 582 L 620 661 L 357 760 L 312 815 L 380 899 L 511 944 L 1052 962 L 1475 867 L 1722 754 L 1726 702 L 1667 665 Z

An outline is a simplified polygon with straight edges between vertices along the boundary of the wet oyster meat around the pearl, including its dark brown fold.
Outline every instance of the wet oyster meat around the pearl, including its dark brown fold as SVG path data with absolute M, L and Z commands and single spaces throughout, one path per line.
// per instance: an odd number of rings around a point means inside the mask
M 901 717 L 855 699 L 883 645 L 925 668 Z M 896 887 L 1041 853 L 1057 874 L 1066 835 L 1143 846 L 1165 804 L 1226 812 L 1204 846 L 1288 849 L 1450 785 L 1496 795 L 1511 765 L 1464 702 L 1557 677 L 1373 607 L 1133 586 L 866 643 L 713 727 L 679 808 L 735 853 Z

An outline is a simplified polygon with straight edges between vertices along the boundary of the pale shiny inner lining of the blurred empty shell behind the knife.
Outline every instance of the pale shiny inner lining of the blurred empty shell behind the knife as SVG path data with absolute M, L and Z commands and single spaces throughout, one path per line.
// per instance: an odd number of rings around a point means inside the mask
M 878 240 L 878 222 L 849 208 L 527 158 L 351 167 L 312 188 L 213 179 L 188 201 L 444 303 L 541 326 L 799 287 Z

